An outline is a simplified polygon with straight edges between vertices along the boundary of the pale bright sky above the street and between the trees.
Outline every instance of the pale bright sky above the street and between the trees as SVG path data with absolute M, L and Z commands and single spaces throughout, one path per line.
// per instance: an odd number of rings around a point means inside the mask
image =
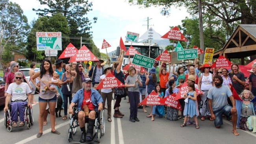
M 31 22 L 37 19 L 35 11 L 32 8 L 42 8 L 37 0 L 9 0 L 16 2 L 24 11 L 24 15 Z M 147 31 L 147 17 L 149 17 L 149 25 L 160 35 L 164 35 L 169 31 L 169 26 L 177 26 L 182 24 L 181 20 L 189 16 L 185 8 L 172 7 L 170 16 L 162 16 L 160 7 L 139 8 L 139 6 L 130 6 L 125 0 L 89 0 L 93 2 L 93 11 L 87 15 L 88 18 L 98 17 L 95 24 L 92 24 L 93 41 L 100 49 L 100 52 L 106 53 L 105 49 L 101 49 L 103 39 L 105 39 L 111 47 L 107 48 L 111 52 L 119 46 L 120 37 L 125 40 L 127 31 L 139 33 L 143 35 Z

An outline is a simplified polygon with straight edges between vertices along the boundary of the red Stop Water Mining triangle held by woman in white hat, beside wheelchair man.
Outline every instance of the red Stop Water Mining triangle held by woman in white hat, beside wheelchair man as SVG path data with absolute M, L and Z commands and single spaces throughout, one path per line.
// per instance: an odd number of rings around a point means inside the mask
M 112 87 L 124 87 L 124 84 L 119 81 L 111 72 L 99 83 L 95 89 L 106 89 Z

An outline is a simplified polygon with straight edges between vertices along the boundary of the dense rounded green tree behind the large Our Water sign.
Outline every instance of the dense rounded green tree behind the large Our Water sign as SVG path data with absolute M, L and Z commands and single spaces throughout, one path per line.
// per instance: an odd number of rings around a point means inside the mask
M 67 25 L 67 20 L 61 14 L 52 15 L 52 17 L 39 17 L 37 20 L 32 22 L 32 29 L 28 35 L 28 53 L 26 57 L 33 61 L 40 61 L 45 57 L 45 51 L 36 50 L 36 32 L 48 31 L 48 32 L 61 32 L 62 39 L 62 50 L 69 44 L 70 29 Z M 58 52 L 60 55 L 61 52 Z

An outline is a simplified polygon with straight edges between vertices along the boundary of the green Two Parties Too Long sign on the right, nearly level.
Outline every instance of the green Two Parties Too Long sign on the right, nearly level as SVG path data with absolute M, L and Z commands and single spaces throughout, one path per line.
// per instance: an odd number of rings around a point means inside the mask
M 197 49 L 177 51 L 178 60 L 195 59 L 197 58 Z

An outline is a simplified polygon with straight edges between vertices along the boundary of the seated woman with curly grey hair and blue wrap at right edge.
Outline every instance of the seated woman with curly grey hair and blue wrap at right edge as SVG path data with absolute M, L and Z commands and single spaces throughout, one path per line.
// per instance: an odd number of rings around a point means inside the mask
M 237 109 L 237 123 L 236 126 L 243 130 L 256 132 L 256 116 L 254 112 L 253 102 L 250 102 L 254 98 L 252 92 L 249 90 L 243 90 L 241 92 L 241 99 L 236 100 Z

